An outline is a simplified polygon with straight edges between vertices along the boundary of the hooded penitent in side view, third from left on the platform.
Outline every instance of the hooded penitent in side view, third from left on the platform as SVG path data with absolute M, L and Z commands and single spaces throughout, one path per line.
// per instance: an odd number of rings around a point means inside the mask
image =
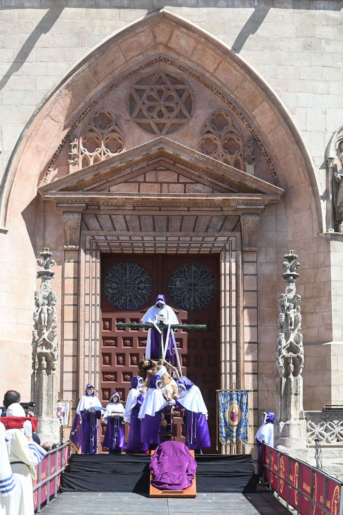
M 142 421 L 138 418 L 144 401 L 144 397 L 139 391 L 139 388 L 143 387 L 143 377 L 134 375 L 131 379 L 131 386 L 124 411 L 124 422 L 130 424 L 126 449 L 129 451 L 147 451 L 148 444 L 141 442 Z

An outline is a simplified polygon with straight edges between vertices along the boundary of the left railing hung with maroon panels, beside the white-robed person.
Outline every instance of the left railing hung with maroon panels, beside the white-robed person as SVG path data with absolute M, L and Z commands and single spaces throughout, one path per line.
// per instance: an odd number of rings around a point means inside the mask
M 36 465 L 37 478 L 32 480 L 33 505 L 35 512 L 40 513 L 41 505 L 50 502 L 50 496 L 57 497 L 60 488 L 61 473 L 68 463 L 70 456 L 70 441 L 49 451 L 43 460 Z

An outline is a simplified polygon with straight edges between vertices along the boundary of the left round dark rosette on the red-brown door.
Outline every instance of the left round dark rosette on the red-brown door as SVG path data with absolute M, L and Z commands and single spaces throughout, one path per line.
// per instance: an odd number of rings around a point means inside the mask
M 119 310 L 135 310 L 143 306 L 152 290 L 148 271 L 138 263 L 124 261 L 112 266 L 104 278 L 107 300 Z

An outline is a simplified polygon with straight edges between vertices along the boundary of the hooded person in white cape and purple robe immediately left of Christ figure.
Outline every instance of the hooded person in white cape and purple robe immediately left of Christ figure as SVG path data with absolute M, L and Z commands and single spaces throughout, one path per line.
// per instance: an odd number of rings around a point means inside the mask
M 166 406 L 167 402 L 163 397 L 161 386 L 161 377 L 153 375 L 138 415 L 142 420 L 142 443 L 162 443 L 162 417 L 160 411 Z

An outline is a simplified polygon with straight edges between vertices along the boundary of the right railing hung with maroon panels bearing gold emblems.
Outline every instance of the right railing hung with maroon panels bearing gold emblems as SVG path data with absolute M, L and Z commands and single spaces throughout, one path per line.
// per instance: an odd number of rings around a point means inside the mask
M 304 461 L 262 444 L 263 484 L 297 515 L 343 515 L 343 484 Z M 286 486 L 286 488 L 285 488 Z M 318 500 L 317 500 L 318 498 Z

